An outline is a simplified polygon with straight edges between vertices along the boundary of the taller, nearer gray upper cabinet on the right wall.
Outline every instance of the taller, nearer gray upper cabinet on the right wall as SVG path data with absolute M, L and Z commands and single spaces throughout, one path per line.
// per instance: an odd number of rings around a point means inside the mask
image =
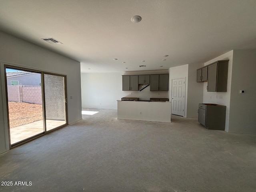
M 208 92 L 227 91 L 228 61 L 217 61 L 208 65 Z

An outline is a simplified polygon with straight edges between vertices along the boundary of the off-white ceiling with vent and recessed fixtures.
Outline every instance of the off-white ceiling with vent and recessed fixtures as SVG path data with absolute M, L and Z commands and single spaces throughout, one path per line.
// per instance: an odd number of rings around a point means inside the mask
M 0 30 L 81 62 L 81 72 L 163 70 L 256 48 L 256 0 L 0 0 Z

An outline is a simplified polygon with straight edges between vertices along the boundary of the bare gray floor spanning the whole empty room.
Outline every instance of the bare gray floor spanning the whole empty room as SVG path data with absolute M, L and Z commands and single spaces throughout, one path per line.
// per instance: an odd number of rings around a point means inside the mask
M 0 191 L 256 191 L 256 135 L 207 130 L 174 115 L 159 123 L 98 111 L 1 154 L 1 184 L 13 186 Z

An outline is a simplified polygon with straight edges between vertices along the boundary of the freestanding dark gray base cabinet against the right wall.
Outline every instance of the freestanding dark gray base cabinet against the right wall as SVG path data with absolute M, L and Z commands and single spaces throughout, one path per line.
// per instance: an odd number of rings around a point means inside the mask
M 225 130 L 226 106 L 200 103 L 198 106 L 198 122 L 207 129 Z

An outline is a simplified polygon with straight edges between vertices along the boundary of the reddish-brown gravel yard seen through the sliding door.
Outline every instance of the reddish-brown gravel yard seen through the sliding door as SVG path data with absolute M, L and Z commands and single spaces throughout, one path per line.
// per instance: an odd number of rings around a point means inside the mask
M 25 102 L 8 102 L 10 128 L 43 119 L 42 105 Z

